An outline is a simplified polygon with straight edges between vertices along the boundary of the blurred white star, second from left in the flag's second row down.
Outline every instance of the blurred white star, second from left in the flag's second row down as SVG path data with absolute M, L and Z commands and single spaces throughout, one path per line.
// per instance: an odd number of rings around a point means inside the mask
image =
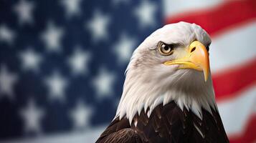
M 54 26 L 52 22 L 49 22 L 47 29 L 42 33 L 42 40 L 47 46 L 49 51 L 60 51 L 60 40 L 64 31 L 57 26 Z

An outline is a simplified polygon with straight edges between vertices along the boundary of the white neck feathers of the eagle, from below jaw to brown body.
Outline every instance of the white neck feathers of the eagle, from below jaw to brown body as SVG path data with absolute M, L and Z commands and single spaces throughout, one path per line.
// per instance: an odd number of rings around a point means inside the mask
M 145 74 L 146 71 L 143 75 Z M 148 76 L 143 75 L 127 71 L 115 118 L 127 117 L 131 124 L 136 113 L 140 114 L 149 109 L 147 114 L 150 117 L 158 104 L 165 105 L 171 101 L 176 102 L 182 110 L 184 107 L 191 110 L 200 119 L 202 119 L 202 108 L 211 114 L 211 107 L 217 110 L 211 77 L 204 82 L 202 73 L 189 69 L 176 71 L 167 78 L 155 76 L 154 79 L 145 79 Z

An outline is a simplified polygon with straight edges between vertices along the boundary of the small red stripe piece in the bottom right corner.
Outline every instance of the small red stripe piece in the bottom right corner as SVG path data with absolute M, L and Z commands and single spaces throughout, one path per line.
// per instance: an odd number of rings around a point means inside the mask
M 230 143 L 256 142 L 255 132 L 256 132 L 256 114 L 250 117 L 244 132 L 242 134 L 229 136 L 229 141 Z

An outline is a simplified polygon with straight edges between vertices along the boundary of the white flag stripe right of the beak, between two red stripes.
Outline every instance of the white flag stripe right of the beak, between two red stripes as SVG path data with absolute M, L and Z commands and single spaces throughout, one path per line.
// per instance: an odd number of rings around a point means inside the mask
M 210 64 L 212 71 L 229 69 L 256 58 L 256 21 L 212 39 Z

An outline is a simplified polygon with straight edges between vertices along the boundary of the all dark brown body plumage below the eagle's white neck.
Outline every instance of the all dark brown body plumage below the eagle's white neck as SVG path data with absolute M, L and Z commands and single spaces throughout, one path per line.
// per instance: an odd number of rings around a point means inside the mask
M 202 109 L 202 119 L 182 111 L 175 102 L 158 105 L 148 118 L 145 112 L 136 114 L 132 125 L 128 119 L 116 118 L 105 129 L 97 143 L 117 142 L 229 142 L 219 113 Z M 136 123 L 137 122 L 137 123 Z M 136 125 L 135 125 L 136 124 Z

